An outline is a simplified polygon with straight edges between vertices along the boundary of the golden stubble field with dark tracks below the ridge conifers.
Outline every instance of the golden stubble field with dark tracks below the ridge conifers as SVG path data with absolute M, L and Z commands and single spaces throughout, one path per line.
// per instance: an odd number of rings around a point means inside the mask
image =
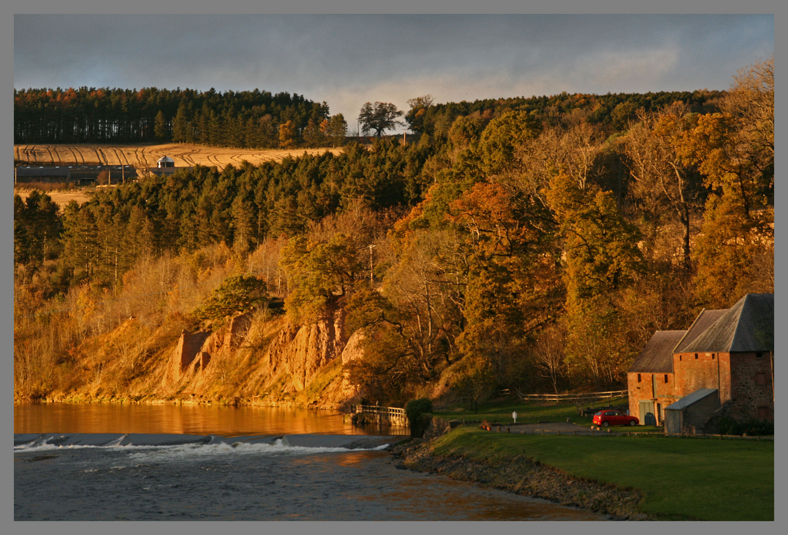
M 154 167 L 162 156 L 175 160 L 175 166 L 216 166 L 222 170 L 228 164 L 240 166 L 243 160 L 258 165 L 262 162 L 279 162 L 285 156 L 339 154 L 341 148 L 251 149 L 206 147 L 168 143 L 161 145 L 113 144 L 19 144 L 13 146 L 13 156 L 18 162 L 39 165 L 133 165 L 138 168 Z

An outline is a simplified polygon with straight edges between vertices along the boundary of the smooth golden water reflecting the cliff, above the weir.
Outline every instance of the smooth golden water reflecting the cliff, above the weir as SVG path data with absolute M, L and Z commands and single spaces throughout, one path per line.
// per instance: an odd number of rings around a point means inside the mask
M 407 428 L 354 427 L 337 410 L 210 405 L 43 403 L 13 407 L 15 433 L 178 433 L 184 435 L 406 435 Z

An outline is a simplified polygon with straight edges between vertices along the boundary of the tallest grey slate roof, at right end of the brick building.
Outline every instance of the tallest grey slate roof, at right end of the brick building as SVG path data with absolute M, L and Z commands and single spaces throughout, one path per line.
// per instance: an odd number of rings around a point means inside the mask
M 682 353 L 774 351 L 775 294 L 746 294 Z

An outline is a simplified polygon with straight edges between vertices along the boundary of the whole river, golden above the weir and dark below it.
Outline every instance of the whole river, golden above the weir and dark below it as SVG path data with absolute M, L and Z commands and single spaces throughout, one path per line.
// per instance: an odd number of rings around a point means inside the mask
M 14 433 L 23 437 L 20 440 L 36 433 L 214 437 L 210 442 L 170 445 L 145 445 L 144 440 L 128 445 L 110 440 L 102 446 L 20 443 L 14 447 L 14 519 L 605 519 L 542 499 L 397 470 L 388 452 L 380 449 L 382 443 L 362 449 L 329 443 L 348 435 L 380 442 L 385 438 L 378 436 L 403 432 L 356 428 L 345 424 L 340 413 L 322 410 L 17 405 Z M 286 440 L 290 436 L 296 443 L 301 437 L 302 443 L 311 444 L 303 437 L 313 435 L 328 442 L 299 447 Z M 269 439 L 248 440 L 249 436 Z M 284 443 L 273 440 L 276 436 L 285 436 Z M 217 437 L 243 438 L 233 442 Z

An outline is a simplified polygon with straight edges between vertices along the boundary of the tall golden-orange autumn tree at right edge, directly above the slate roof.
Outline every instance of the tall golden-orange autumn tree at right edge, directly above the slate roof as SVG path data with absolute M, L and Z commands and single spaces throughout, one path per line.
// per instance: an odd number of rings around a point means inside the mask
M 711 190 L 697 245 L 697 296 L 730 306 L 774 288 L 774 59 L 740 71 L 723 112 L 698 118 L 687 159 Z

